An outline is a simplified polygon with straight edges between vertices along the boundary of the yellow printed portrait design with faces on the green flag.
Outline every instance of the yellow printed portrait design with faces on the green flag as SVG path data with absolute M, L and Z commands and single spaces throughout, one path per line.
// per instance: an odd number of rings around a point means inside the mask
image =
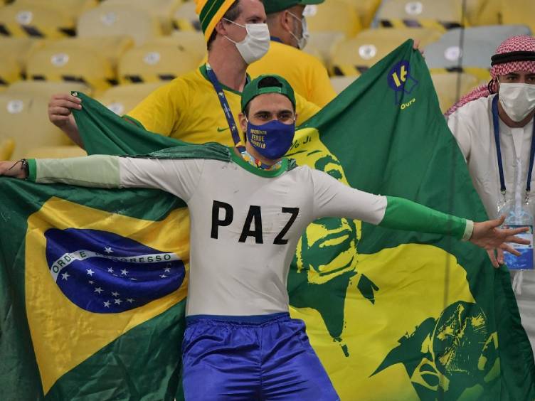
M 297 132 L 288 153 L 347 184 L 317 130 Z M 494 379 L 496 333 L 455 257 L 419 244 L 360 254 L 361 225 L 344 218 L 309 225 L 288 284 L 292 316 L 306 322 L 341 399 L 434 399 L 450 382 L 470 392 Z

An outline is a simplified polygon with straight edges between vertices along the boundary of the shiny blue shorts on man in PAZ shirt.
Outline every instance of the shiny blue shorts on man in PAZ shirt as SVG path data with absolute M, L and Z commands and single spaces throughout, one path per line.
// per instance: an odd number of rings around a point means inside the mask
M 310 346 L 304 322 L 190 316 L 182 343 L 186 401 L 339 400 Z

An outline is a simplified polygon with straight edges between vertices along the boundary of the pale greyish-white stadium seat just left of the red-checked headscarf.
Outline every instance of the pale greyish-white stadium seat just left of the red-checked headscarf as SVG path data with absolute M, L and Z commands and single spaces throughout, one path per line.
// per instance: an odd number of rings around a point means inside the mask
M 464 38 L 462 59 L 459 48 L 461 33 Z M 425 61 L 435 72 L 462 70 L 487 80 L 490 58 L 502 41 L 514 35 L 529 35 L 529 28 L 521 25 L 496 25 L 475 26 L 463 31 L 460 28 L 452 29 L 438 42 L 425 47 Z

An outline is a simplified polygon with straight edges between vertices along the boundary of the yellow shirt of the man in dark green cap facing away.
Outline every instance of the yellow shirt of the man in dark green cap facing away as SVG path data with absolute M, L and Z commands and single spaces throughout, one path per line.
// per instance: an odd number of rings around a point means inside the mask
M 295 92 L 319 107 L 324 107 L 337 95 L 321 61 L 277 39 L 272 39 L 270 50 L 263 58 L 249 65 L 247 73 L 253 78 L 262 74 L 281 75 Z

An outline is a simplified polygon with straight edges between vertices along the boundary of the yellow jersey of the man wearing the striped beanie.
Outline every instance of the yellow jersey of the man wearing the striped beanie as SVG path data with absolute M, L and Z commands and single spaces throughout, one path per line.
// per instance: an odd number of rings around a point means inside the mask
M 234 121 L 238 125 L 241 94 L 223 86 Z M 296 94 L 297 124 L 319 110 Z M 125 116 L 157 134 L 194 144 L 216 141 L 233 146 L 231 130 L 216 90 L 206 75 L 206 65 L 159 87 Z

